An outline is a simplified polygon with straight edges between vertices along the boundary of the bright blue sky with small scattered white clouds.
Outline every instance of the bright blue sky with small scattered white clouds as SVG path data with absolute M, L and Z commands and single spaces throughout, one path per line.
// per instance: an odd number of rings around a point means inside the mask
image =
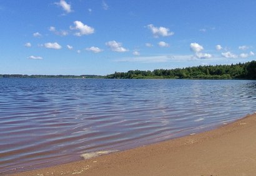
M 256 1 L 0 0 L 0 73 L 107 75 L 255 60 Z

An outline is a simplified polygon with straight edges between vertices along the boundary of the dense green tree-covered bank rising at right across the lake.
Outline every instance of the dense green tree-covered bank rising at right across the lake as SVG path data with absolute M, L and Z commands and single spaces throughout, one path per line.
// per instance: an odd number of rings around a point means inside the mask
M 232 65 L 208 65 L 175 69 L 155 69 L 154 71 L 130 70 L 115 72 L 106 78 L 143 79 L 256 79 L 256 61 Z

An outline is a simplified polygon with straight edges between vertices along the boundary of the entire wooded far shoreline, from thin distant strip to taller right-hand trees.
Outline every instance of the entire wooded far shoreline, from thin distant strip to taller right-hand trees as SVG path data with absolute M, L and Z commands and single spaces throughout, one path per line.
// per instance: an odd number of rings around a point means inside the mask
M 0 78 L 109 78 L 109 79 L 201 79 L 201 80 L 256 80 L 256 61 L 231 65 L 200 65 L 197 67 L 129 70 L 110 75 L 20 75 L 0 74 Z

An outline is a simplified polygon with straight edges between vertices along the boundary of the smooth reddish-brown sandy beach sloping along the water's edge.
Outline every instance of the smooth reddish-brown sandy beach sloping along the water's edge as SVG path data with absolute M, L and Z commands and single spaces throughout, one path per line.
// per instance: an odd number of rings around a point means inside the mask
M 212 131 L 14 175 L 256 175 L 256 114 Z

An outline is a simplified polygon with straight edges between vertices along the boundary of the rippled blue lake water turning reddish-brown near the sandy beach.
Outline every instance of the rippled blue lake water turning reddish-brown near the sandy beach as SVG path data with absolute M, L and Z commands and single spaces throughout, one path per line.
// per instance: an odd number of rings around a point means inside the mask
M 255 111 L 250 80 L 2 78 L 0 173 L 164 141 Z

